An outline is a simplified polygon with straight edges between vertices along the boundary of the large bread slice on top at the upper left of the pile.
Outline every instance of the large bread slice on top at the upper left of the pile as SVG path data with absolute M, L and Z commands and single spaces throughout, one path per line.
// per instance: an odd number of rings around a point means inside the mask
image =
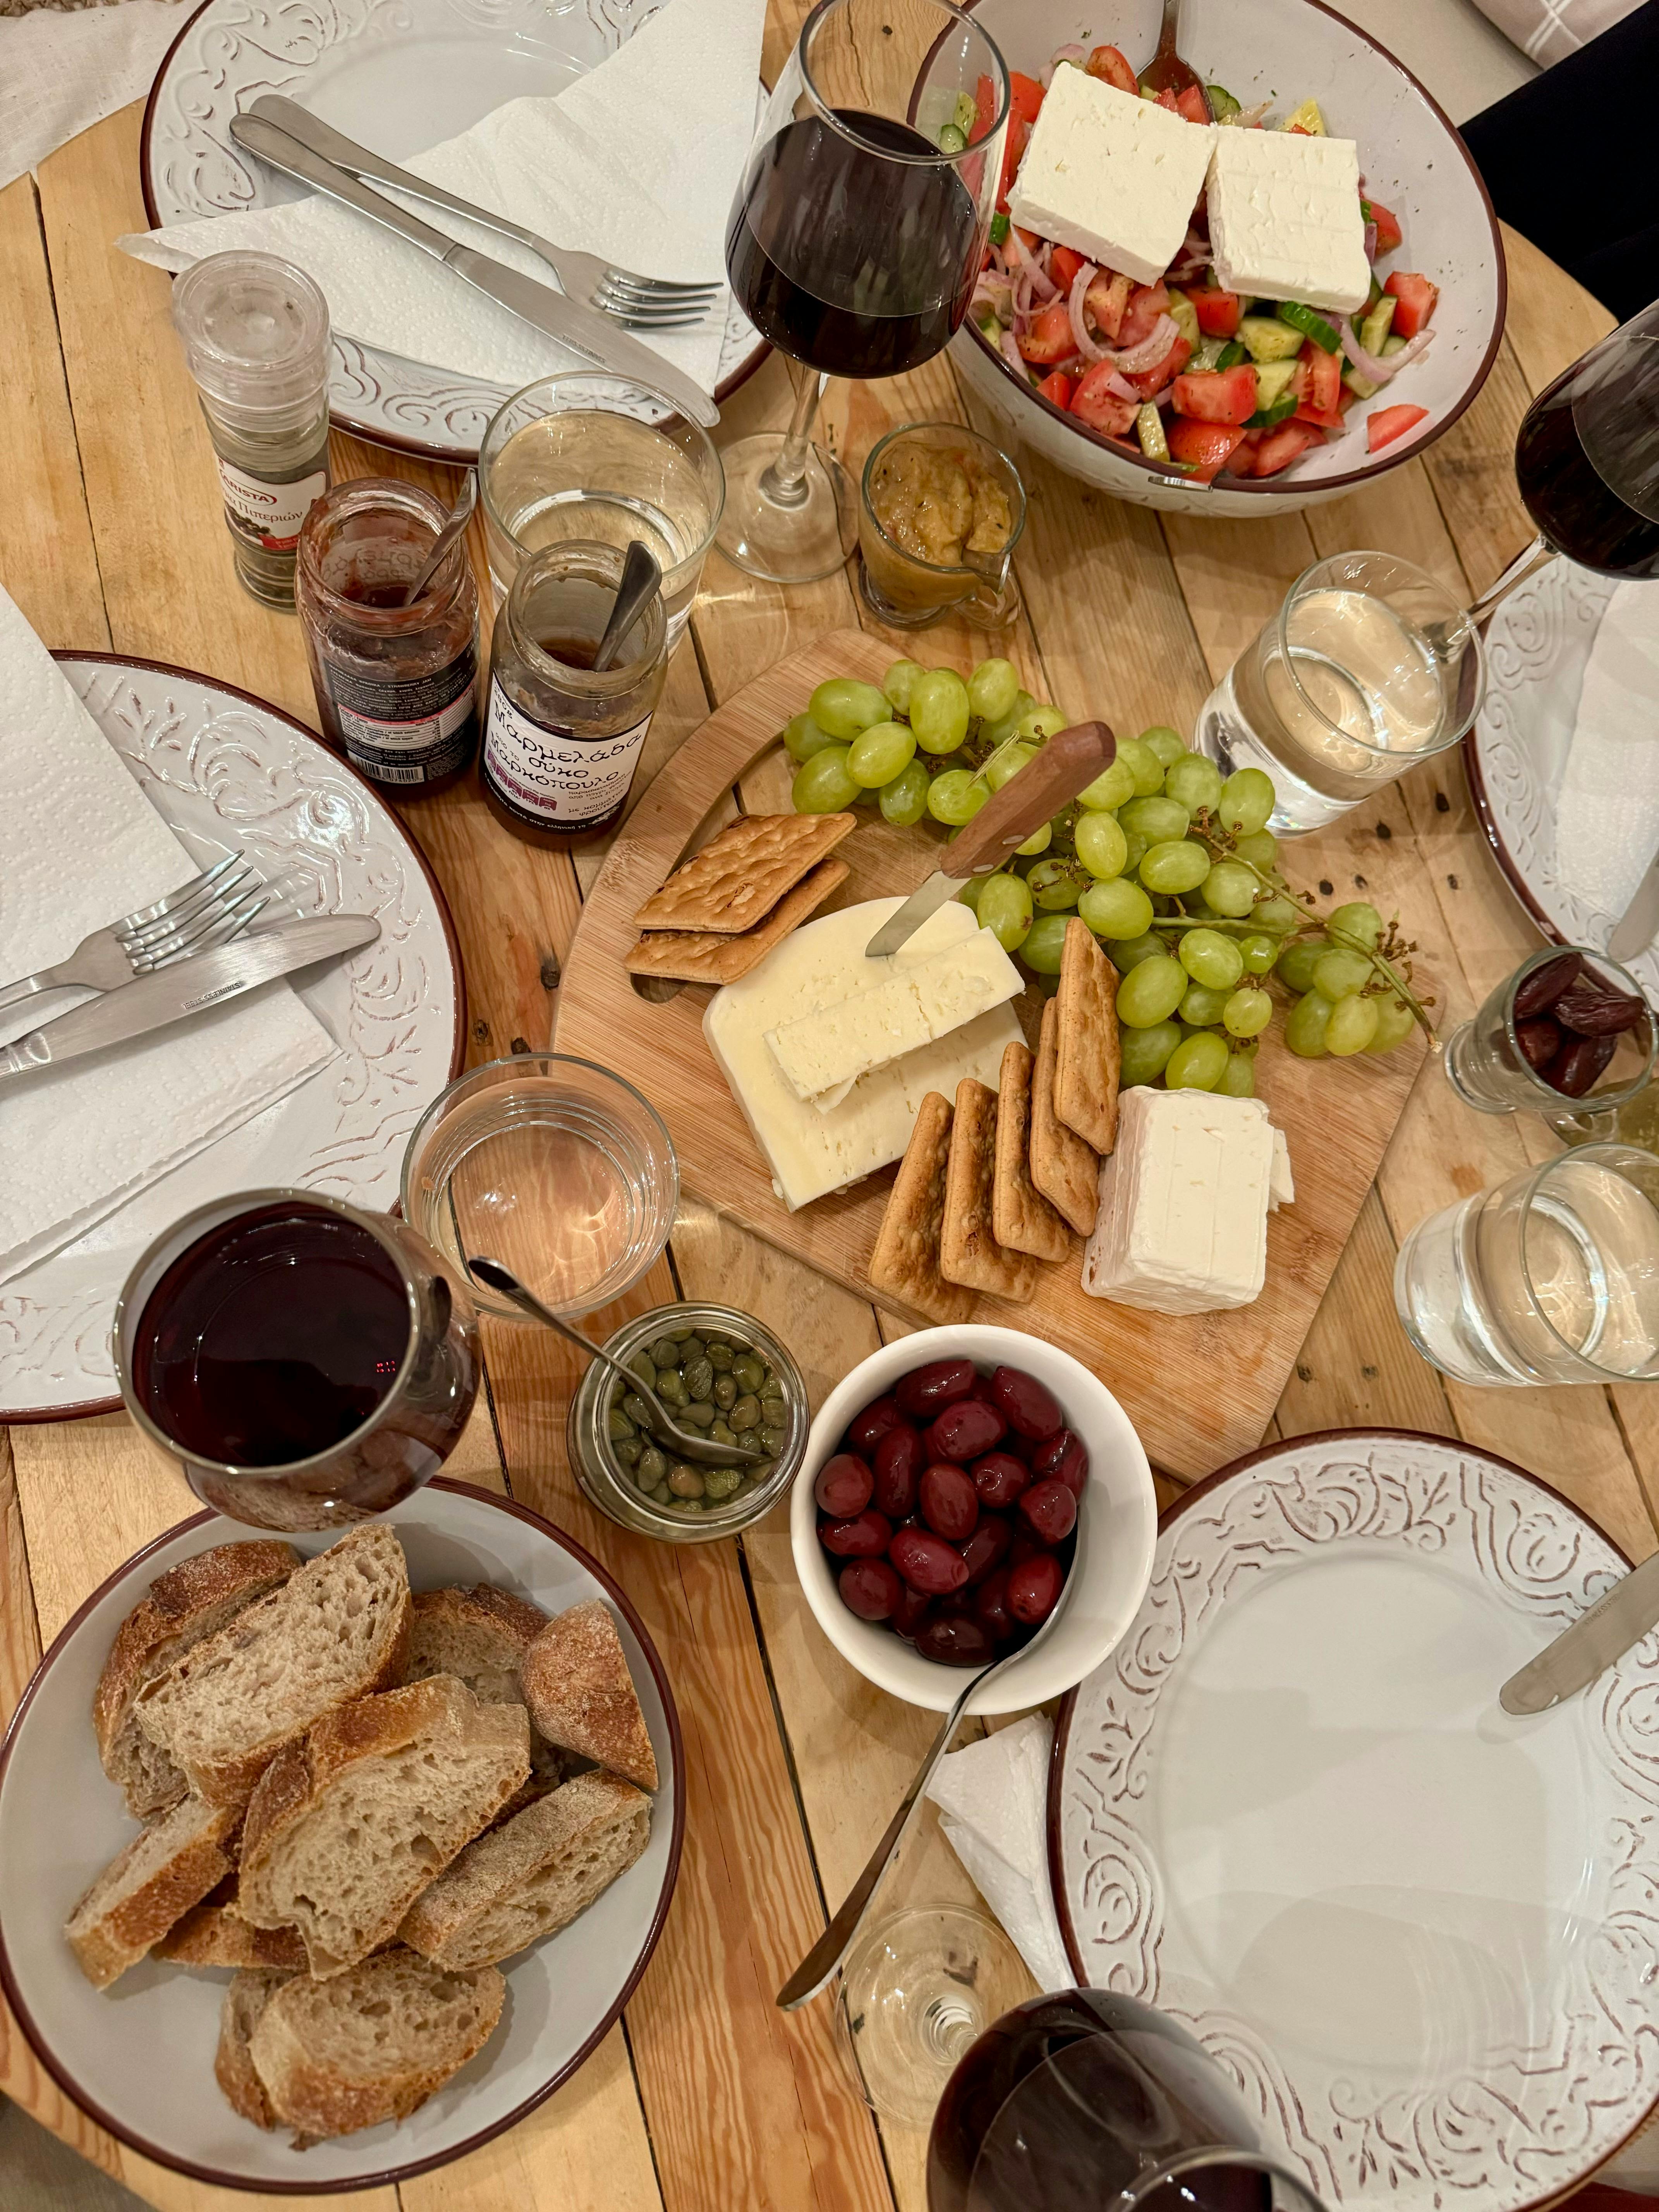
M 312 1721 L 398 1679 L 407 1639 L 403 1544 L 367 1522 L 146 1681 L 133 1712 L 199 1796 L 246 1805 Z

